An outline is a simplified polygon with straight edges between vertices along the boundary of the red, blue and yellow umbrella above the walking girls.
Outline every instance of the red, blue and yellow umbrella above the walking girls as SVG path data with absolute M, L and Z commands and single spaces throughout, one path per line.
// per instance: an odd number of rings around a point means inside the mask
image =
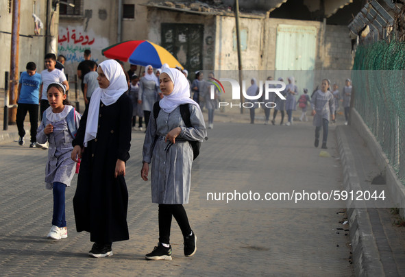
M 129 60 L 132 64 L 143 65 L 144 67 L 151 64 L 154 68 L 160 68 L 162 64 L 169 64 L 169 67 L 172 68 L 183 68 L 182 64 L 169 51 L 148 40 L 124 41 L 103 49 L 101 53 L 110 59 L 118 59 L 123 62 Z

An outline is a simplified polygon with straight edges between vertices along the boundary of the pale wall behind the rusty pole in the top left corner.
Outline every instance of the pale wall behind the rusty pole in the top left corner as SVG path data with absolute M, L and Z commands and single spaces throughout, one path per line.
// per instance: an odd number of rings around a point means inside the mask
M 12 13 L 8 12 L 8 0 L 0 0 L 0 31 L 12 32 Z M 27 62 L 35 62 L 37 71 L 44 69 L 45 37 L 34 36 L 34 18 L 36 14 L 42 23 L 46 22 L 46 0 L 21 1 L 20 7 L 20 34 L 32 35 L 32 38 L 20 36 L 19 38 L 19 71 L 25 71 Z M 11 34 L 0 32 L 0 88 L 4 88 L 4 73 L 10 71 Z M 40 35 L 45 34 L 42 29 Z M 3 97 L 3 95 L 1 95 Z

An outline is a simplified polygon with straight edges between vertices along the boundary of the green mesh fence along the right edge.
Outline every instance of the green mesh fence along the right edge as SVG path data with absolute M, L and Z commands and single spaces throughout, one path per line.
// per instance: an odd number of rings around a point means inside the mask
M 405 184 L 405 43 L 359 45 L 352 81 L 354 108 Z

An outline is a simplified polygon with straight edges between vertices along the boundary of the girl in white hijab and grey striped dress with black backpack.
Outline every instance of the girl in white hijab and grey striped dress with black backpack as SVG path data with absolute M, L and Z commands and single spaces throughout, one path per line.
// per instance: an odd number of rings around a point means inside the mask
M 164 95 L 158 102 L 157 115 L 151 115 L 143 144 L 143 167 L 140 176 L 148 180 L 151 163 L 152 202 L 158 204 L 159 243 L 147 260 L 171 260 L 171 219 L 175 218 L 184 237 L 184 255 L 193 256 L 197 236 L 191 230 L 183 204 L 188 204 L 191 187 L 193 149 L 188 141 L 206 137 L 204 117 L 197 102 L 189 98 L 189 86 L 177 69 L 164 69 L 160 75 Z M 187 106 L 180 106 L 188 104 Z M 188 108 L 191 127 L 186 127 L 182 108 Z M 153 113 L 155 113 L 155 108 Z

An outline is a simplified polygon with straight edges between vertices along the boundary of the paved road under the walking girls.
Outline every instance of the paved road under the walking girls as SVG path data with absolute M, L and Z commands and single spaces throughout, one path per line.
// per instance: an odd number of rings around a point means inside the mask
M 90 258 L 89 234 L 75 232 L 73 186 L 66 190 L 69 238 L 45 239 L 52 194 L 43 184 L 47 152 L 0 145 L 1 276 L 352 276 L 349 236 L 339 221 L 344 203 L 328 206 L 206 201 L 208 192 L 342 190 L 342 170 L 330 128 L 328 154 L 313 147 L 310 123 L 280 125 L 215 123 L 193 169 L 186 211 L 197 234 L 197 254 L 182 254 L 173 220 L 173 261 L 145 261 L 158 239 L 157 206 L 149 182 L 140 179 L 143 132 L 132 132 L 127 162 L 130 240 L 113 244 L 114 256 Z M 336 232 L 339 232 L 337 234 Z M 339 246 L 338 246 L 339 245 Z

